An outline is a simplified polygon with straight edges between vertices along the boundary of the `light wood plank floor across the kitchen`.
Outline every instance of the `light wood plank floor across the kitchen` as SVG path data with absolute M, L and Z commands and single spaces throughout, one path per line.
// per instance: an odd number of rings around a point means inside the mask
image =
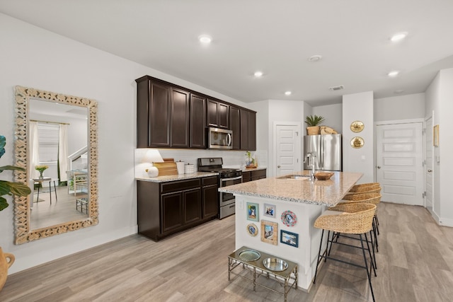
M 383 202 L 379 223 L 376 301 L 452 301 L 453 228 L 437 226 L 423 207 Z M 233 251 L 234 216 L 159 243 L 129 236 L 10 275 L 0 301 L 283 301 L 241 279 L 228 281 Z M 360 250 L 333 252 L 361 259 Z M 310 293 L 292 289 L 288 301 L 372 298 L 364 269 L 328 260 Z

